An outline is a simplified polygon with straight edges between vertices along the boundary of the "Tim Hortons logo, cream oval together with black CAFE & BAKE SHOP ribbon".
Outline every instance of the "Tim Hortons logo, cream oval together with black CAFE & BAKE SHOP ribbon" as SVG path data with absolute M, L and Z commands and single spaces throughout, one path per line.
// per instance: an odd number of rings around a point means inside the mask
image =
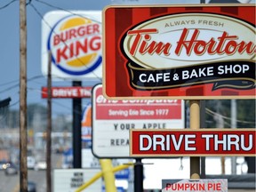
M 130 28 L 121 45 L 135 89 L 210 83 L 212 91 L 255 88 L 254 23 L 212 13 L 172 14 Z

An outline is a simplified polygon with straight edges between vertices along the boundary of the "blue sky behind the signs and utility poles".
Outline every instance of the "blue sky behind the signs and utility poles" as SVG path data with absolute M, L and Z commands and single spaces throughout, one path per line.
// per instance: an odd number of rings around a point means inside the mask
M 206 3 L 209 0 L 206 0 Z M 243 0 L 244 1 L 244 0 Z M 41 98 L 41 88 L 47 85 L 47 80 L 41 71 L 41 30 L 42 17 L 46 12 L 55 10 L 69 11 L 102 11 L 109 4 L 135 4 L 135 2 L 152 4 L 156 0 L 32 0 L 27 5 L 28 27 L 28 104 L 40 103 L 46 106 L 46 100 Z M 170 4 L 199 4 L 199 0 L 159 0 L 158 3 Z M 20 2 L 18 0 L 0 1 L 0 100 L 11 97 L 10 108 L 20 107 Z M 251 3 L 255 3 L 252 0 Z M 94 85 L 95 82 L 83 81 L 84 86 Z M 52 82 L 52 86 L 71 86 L 71 81 Z M 85 102 L 85 103 L 84 103 Z M 85 106 L 89 100 L 83 100 Z M 52 113 L 70 113 L 71 99 L 53 99 Z

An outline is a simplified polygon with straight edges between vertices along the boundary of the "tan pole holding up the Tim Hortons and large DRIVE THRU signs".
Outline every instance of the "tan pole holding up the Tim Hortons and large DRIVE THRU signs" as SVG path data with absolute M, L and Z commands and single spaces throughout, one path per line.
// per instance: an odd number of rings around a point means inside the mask
M 200 100 L 190 100 L 190 129 L 200 129 Z M 200 156 L 190 156 L 190 179 L 200 179 Z

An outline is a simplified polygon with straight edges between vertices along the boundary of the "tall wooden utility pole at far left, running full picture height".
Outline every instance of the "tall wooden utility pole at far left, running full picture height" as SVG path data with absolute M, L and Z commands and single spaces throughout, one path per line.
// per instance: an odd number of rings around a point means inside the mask
M 28 191 L 26 0 L 20 0 L 20 191 Z

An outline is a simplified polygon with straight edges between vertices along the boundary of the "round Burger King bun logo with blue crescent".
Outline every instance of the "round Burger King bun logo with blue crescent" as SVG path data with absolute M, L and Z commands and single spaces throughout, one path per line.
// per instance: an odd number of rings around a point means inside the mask
M 56 22 L 47 41 L 52 62 L 68 75 L 85 75 L 101 61 L 101 24 L 71 15 Z

